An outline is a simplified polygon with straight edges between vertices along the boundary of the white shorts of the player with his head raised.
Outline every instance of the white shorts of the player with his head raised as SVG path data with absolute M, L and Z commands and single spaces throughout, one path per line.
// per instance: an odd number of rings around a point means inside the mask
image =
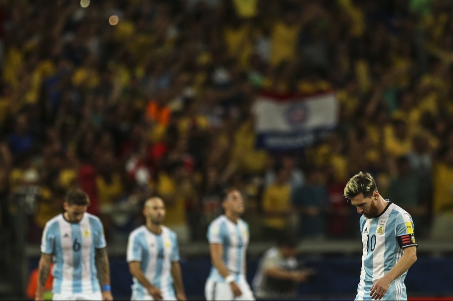
M 239 283 L 237 283 L 239 289 L 242 292 L 242 295 L 234 298 L 231 288 L 226 282 L 214 282 L 212 280 L 206 281 L 205 286 L 205 297 L 207 301 L 216 301 L 216 300 L 235 300 L 235 301 L 253 301 L 252 290 L 245 280 L 244 276 L 239 277 Z

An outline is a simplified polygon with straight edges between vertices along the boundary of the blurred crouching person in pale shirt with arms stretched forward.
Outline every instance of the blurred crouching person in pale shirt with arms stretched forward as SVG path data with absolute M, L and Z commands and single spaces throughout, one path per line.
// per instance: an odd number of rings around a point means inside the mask
M 256 297 L 273 299 L 297 296 L 297 284 L 309 281 L 315 276 L 315 271 L 303 268 L 296 255 L 297 243 L 286 236 L 279 238 L 277 247 L 264 253 L 253 279 Z

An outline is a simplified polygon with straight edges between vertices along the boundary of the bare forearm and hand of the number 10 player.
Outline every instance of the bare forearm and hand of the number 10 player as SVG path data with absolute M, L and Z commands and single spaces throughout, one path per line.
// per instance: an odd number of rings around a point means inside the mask
M 371 299 L 382 299 L 390 284 L 404 274 L 415 261 L 417 261 L 417 247 L 409 246 L 404 248 L 404 253 L 396 265 L 371 287 Z

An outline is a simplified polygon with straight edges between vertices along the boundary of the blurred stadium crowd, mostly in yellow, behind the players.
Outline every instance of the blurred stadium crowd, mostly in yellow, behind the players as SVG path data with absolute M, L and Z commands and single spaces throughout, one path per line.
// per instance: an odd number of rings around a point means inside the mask
M 25 298 L 74 187 L 106 228 L 115 297 L 130 296 L 127 237 L 159 195 L 186 293 L 203 298 L 206 230 L 231 185 L 250 282 L 289 234 L 317 271 L 299 298 L 354 298 L 360 215 L 342 193 L 359 171 L 413 217 L 408 296 L 453 296 L 453 1 L 0 3 L 0 298 Z M 262 104 L 313 95 L 328 97 L 329 127 L 305 128 L 323 112 L 302 105 L 287 114 L 296 136 L 269 139 L 281 124 Z

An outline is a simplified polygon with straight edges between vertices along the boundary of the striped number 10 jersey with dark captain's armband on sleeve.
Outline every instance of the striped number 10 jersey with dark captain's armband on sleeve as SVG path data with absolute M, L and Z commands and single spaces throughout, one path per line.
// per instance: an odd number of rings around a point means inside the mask
M 396 265 L 403 248 L 417 246 L 413 230 L 409 213 L 390 201 L 381 215 L 371 219 L 362 215 L 362 268 L 355 300 L 371 300 L 371 287 Z M 407 300 L 406 274 L 407 271 L 392 282 L 382 300 Z

